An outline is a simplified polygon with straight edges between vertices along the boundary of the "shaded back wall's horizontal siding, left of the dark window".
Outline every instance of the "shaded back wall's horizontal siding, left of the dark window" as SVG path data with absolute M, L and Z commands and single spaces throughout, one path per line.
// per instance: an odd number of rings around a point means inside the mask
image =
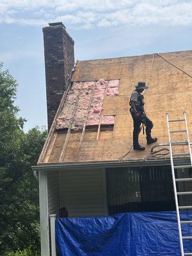
M 60 205 L 69 217 L 104 216 L 106 200 L 104 170 L 60 172 Z

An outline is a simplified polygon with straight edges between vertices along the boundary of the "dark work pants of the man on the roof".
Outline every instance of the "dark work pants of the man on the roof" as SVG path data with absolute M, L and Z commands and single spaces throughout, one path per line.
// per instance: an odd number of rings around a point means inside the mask
M 151 130 L 152 127 L 154 126 L 152 121 L 145 115 L 143 115 L 143 113 L 139 112 L 140 116 L 139 117 L 135 117 L 134 113 L 131 112 L 132 115 L 132 119 L 133 119 L 133 145 L 137 146 L 139 145 L 139 134 L 141 131 L 141 124 L 144 124 L 146 126 L 145 128 L 145 132 L 146 132 L 146 136 L 147 138 L 151 138 Z

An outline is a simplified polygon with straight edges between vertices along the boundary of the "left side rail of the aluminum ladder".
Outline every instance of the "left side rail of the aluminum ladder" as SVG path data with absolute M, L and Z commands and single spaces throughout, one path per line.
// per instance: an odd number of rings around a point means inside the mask
M 168 127 L 168 140 L 169 140 L 169 145 L 170 145 L 170 161 L 171 161 L 171 166 L 172 166 L 173 189 L 174 189 L 174 195 L 175 195 L 177 223 L 178 223 L 178 229 L 179 229 L 180 252 L 181 252 L 181 256 L 184 256 L 184 248 L 183 248 L 183 243 L 182 243 L 182 230 L 181 230 L 181 226 L 180 226 L 179 203 L 178 203 L 178 198 L 177 198 L 177 187 L 176 187 L 176 182 L 175 182 L 175 170 L 174 170 L 174 164 L 173 164 L 172 143 L 171 143 L 171 136 L 170 136 L 170 125 L 169 125 L 168 113 L 166 113 L 166 121 L 167 121 L 167 127 Z

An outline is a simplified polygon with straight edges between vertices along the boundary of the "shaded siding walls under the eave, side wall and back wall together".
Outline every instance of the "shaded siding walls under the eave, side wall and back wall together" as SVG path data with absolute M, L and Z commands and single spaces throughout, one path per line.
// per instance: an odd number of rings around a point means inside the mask
M 49 214 L 63 206 L 69 217 L 108 214 L 104 169 L 47 172 L 47 196 Z

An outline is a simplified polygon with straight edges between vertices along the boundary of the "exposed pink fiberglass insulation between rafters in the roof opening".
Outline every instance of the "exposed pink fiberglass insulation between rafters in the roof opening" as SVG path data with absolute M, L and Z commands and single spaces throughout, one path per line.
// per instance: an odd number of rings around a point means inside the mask
M 82 85 L 83 88 L 81 88 Z M 76 115 L 74 116 L 71 128 L 73 130 L 83 129 L 87 113 L 88 119 L 86 125 L 98 125 L 102 113 L 102 105 L 105 94 L 106 96 L 118 95 L 118 87 L 119 80 L 117 79 L 110 81 L 100 79 L 96 84 L 95 81 L 73 83 L 72 89 L 68 92 L 63 110 L 56 120 L 56 129 L 64 129 L 70 126 L 70 120 L 73 117 L 78 97 L 79 101 L 77 104 Z M 80 90 L 81 95 L 79 96 Z M 92 102 L 90 106 L 91 96 Z M 88 112 L 89 106 L 90 110 Z M 114 124 L 114 122 L 115 116 L 103 116 L 101 124 L 108 125 Z

